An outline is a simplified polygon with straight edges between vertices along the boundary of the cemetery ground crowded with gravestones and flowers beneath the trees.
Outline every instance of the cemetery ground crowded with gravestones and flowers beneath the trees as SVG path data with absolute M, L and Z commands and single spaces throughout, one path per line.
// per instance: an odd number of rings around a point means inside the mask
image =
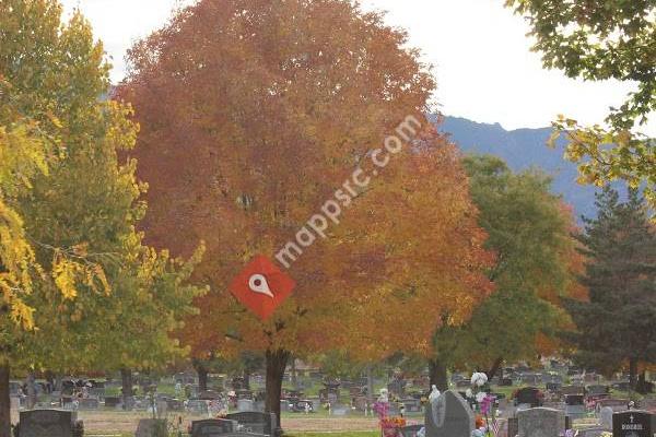
M 621 387 L 625 375 L 616 375 L 616 380 L 588 378 L 590 383 L 564 385 L 558 390 L 548 390 L 550 382 L 526 386 L 528 371 L 550 373 L 563 383 L 586 380 L 585 373 L 567 375 L 565 362 L 553 366 L 543 361 L 543 365 L 535 370 L 519 371 L 520 366 L 504 369 L 514 376 L 511 387 L 488 381 L 484 374 L 454 373 L 444 392 L 435 387 L 426 390 L 425 374 L 405 376 L 399 368 L 388 370 L 387 376 L 376 374 L 371 381 L 366 376 L 359 380 L 327 378 L 320 370 L 312 376 L 293 375 L 288 368 L 280 400 L 284 433 L 467 437 L 484 436 L 479 429 L 490 428 L 495 429 L 494 436 L 652 436 L 656 395 L 636 397 L 613 389 Z M 247 383 L 230 375 L 209 375 L 207 379 L 209 387 L 200 390 L 194 370 L 185 376 L 148 377 L 149 386 L 136 386 L 137 394 L 127 404 L 125 397 L 114 395 L 121 388 L 116 379 L 95 378 L 93 385 L 103 390 L 91 391 L 85 389 L 87 379 L 71 378 L 73 385 L 50 392 L 46 381 L 35 380 L 43 387 L 35 390 L 33 408 L 27 408 L 25 381 L 15 380 L 14 433 L 36 437 L 258 437 L 281 433 L 276 414 L 266 413 L 263 402 L 256 400 L 265 389 L 261 376 L 250 375 Z M 368 385 L 374 388 L 373 397 L 363 394 Z M 73 388 L 78 386 L 80 390 Z M 140 393 L 143 388 L 145 394 Z

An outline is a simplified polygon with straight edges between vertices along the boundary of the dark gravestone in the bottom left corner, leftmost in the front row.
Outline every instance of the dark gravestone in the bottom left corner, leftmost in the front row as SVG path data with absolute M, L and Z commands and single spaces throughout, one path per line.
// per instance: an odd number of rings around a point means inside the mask
M 78 415 L 72 411 L 22 411 L 19 437 L 72 437 Z

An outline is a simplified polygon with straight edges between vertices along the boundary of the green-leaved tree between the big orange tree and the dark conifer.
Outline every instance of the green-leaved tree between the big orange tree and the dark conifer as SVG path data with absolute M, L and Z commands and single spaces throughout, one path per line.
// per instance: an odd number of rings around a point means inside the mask
M 535 356 L 537 336 L 551 334 L 560 320 L 554 303 L 569 283 L 573 245 L 570 217 L 549 192 L 549 177 L 536 170 L 514 174 L 493 156 L 468 156 L 464 165 L 479 225 L 489 236 L 485 247 L 496 253 L 488 272 L 495 292 L 462 327 L 445 323 L 437 331 L 430 370 L 431 383 L 442 389 L 450 366 L 484 369 L 492 377 L 503 359 Z

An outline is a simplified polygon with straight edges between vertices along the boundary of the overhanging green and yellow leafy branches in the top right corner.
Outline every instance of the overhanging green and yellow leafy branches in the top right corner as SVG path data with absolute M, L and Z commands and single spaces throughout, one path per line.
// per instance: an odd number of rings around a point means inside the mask
M 534 50 L 542 54 L 546 68 L 570 78 L 635 83 L 626 101 L 611 108 L 608 128 L 583 127 L 562 116 L 554 127 L 566 132 L 566 157 L 579 163 L 581 181 L 602 185 L 622 178 L 633 187 L 646 182 L 646 196 L 656 204 L 656 145 L 639 129 L 656 109 L 656 3 L 506 0 L 506 7 L 527 17 L 536 38 Z

